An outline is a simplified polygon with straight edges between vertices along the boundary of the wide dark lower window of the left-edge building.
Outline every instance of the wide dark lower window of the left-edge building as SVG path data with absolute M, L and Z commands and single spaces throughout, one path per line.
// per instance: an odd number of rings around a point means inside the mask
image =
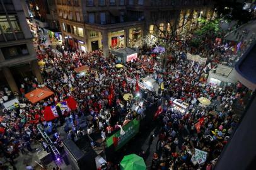
M 3 47 L 1 48 L 1 51 L 3 52 L 4 58 L 6 60 L 13 59 L 13 57 L 28 55 L 28 48 L 26 47 L 26 44 L 22 45 L 15 45 L 13 47 Z

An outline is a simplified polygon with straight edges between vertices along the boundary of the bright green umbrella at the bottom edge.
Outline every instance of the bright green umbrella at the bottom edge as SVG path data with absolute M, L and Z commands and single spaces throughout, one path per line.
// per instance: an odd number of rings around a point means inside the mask
M 125 156 L 120 162 L 121 170 L 146 170 L 146 164 L 142 157 L 136 154 Z

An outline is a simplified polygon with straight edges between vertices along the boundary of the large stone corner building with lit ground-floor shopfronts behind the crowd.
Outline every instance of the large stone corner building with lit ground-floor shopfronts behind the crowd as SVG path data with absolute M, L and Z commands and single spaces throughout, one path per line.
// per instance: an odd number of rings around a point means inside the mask
M 168 29 L 166 20 L 177 25 L 195 18 L 214 15 L 212 1 L 206 0 L 55 0 L 64 42 L 91 51 L 130 47 L 131 40 L 156 33 L 154 25 Z M 165 20 L 163 20 L 165 18 Z M 182 19 L 181 19 L 182 18 Z M 190 21 L 192 25 L 195 22 Z M 190 27 L 188 28 L 190 29 Z M 182 26 L 182 29 L 187 29 Z

